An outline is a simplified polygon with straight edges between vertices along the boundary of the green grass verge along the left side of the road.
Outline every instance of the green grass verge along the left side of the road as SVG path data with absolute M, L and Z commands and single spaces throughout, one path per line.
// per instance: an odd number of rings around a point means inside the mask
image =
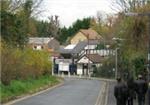
M 60 83 L 60 79 L 54 76 L 46 75 L 38 79 L 13 80 L 10 85 L 5 86 L 0 83 L 1 103 L 17 99 L 22 95 L 32 94 L 48 87 Z

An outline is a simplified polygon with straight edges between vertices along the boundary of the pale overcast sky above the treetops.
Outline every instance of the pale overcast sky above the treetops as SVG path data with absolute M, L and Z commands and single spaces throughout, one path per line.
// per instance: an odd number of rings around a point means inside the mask
M 61 26 L 70 26 L 77 19 L 96 16 L 97 11 L 113 13 L 112 0 L 44 0 L 41 8 L 44 12 L 41 19 L 58 15 Z

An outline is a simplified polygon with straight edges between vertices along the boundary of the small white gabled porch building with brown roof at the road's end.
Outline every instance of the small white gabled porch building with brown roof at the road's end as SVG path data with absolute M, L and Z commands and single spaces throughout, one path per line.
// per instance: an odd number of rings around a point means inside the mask
M 99 54 L 86 54 L 77 61 L 77 75 L 90 75 L 94 67 L 99 67 L 104 58 Z

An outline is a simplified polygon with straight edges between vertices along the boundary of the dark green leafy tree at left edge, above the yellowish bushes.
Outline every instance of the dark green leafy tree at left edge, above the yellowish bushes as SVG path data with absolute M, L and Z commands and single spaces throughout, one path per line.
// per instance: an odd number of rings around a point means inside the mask
M 23 23 L 15 14 L 1 11 L 1 36 L 12 46 L 23 47 L 27 42 L 27 34 L 23 29 Z

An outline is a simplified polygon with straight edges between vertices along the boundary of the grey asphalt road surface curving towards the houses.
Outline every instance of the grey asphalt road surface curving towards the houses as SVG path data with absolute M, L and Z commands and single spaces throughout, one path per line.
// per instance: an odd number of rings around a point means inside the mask
M 104 82 L 65 78 L 63 86 L 13 105 L 95 105 Z

